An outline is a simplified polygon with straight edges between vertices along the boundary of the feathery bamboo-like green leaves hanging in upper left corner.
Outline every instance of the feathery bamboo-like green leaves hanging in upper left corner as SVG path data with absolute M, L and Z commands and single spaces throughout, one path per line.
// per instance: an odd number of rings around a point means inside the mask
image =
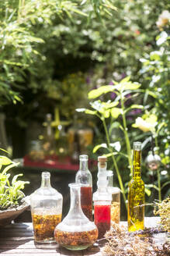
M 21 101 L 19 92 L 25 89 L 26 74 L 35 76 L 38 63 L 46 59 L 39 44 L 46 43 L 47 39 L 54 36 L 54 31 L 58 29 L 56 23 L 65 23 L 65 20 L 72 23 L 73 15 L 84 16 L 87 21 L 92 12 L 101 18 L 108 9 L 114 9 L 109 0 L 84 1 L 82 5 L 76 0 L 2 1 L 0 105 L 6 101 L 13 101 L 14 104 Z M 57 37 L 59 39 L 59 35 Z

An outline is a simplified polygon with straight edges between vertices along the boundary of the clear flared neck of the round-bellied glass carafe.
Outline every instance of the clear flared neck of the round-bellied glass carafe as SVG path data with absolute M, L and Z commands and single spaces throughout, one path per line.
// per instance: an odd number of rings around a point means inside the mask
M 71 206 L 70 206 L 69 212 L 78 214 L 78 212 L 82 212 L 80 185 L 78 183 L 71 183 L 69 184 L 69 187 L 70 187 L 70 197 L 71 197 Z

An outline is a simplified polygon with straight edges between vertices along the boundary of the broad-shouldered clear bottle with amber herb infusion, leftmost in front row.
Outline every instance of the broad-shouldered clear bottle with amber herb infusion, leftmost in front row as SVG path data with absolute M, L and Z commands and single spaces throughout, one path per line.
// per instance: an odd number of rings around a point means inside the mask
M 50 172 L 42 172 L 41 187 L 30 196 L 34 240 L 54 243 L 54 229 L 61 222 L 63 197 L 50 186 Z

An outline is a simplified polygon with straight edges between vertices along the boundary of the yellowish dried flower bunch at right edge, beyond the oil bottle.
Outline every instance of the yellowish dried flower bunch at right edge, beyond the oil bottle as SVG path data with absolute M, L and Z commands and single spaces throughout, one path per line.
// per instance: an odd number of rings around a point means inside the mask
M 167 197 L 161 203 L 156 202 L 154 215 L 160 215 L 161 226 L 165 231 L 170 232 L 170 197 Z

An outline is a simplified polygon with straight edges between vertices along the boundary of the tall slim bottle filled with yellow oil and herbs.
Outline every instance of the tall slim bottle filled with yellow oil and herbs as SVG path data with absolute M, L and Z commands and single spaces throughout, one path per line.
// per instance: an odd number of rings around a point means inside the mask
M 141 142 L 134 142 L 133 178 L 128 186 L 128 231 L 144 229 L 144 181 L 141 180 Z

